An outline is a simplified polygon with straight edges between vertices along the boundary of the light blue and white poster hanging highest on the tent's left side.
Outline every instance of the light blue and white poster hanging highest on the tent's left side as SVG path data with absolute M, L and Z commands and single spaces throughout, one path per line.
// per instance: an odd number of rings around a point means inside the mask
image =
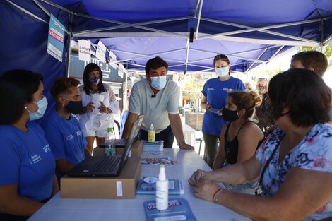
M 49 37 L 47 41 L 47 53 L 62 62 L 64 51 L 64 25 L 51 14 L 49 18 Z

